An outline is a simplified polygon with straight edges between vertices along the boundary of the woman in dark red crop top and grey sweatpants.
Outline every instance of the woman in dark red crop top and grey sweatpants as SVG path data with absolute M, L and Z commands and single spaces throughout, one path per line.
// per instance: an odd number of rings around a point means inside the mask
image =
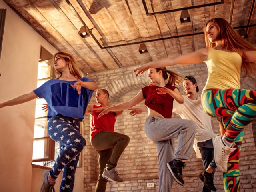
M 175 87 L 180 75 L 166 70 L 166 68 L 150 68 L 148 78 L 153 84 L 143 87 L 140 92 L 128 102 L 124 102 L 105 109 L 99 115 L 110 111 L 129 109 L 145 100 L 148 107 L 148 118 L 145 122 L 145 132 L 157 147 L 159 161 L 159 192 L 171 191 L 172 176 L 180 184 L 182 168 L 190 156 L 193 146 L 196 125 L 190 120 L 172 119 L 172 104 L 175 99 L 183 103 L 183 97 Z M 166 81 L 168 83 L 166 84 Z M 178 146 L 174 154 L 174 140 L 178 137 Z M 167 166 L 166 166 L 167 165 Z M 170 174 L 170 172 L 172 174 Z

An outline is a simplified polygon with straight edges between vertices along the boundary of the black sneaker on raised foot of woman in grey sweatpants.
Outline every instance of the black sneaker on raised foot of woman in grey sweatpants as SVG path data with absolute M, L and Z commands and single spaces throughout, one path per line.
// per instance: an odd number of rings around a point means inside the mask
M 184 168 L 185 163 L 180 160 L 174 159 L 168 162 L 166 165 L 176 182 L 180 185 L 184 185 L 184 180 L 182 178 L 182 169 Z

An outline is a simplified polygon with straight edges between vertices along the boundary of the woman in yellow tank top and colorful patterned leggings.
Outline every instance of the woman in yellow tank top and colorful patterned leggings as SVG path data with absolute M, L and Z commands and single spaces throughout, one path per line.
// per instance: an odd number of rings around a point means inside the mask
M 240 89 L 241 68 L 256 75 L 256 48 L 222 18 L 204 26 L 206 48 L 176 58 L 165 58 L 136 68 L 136 76 L 148 68 L 206 61 L 208 79 L 202 92 L 204 111 L 218 118 L 223 136 L 213 138 L 214 158 L 224 172 L 226 192 L 239 191 L 239 157 L 244 128 L 256 118 L 256 91 Z

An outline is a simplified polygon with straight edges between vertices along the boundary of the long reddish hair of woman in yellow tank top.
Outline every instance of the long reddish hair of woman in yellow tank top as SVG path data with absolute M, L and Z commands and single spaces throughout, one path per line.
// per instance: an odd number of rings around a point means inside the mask
M 213 18 L 206 22 L 204 25 L 204 38 L 207 48 L 214 48 L 216 43 L 210 42 L 207 38 L 206 26 L 209 22 L 216 24 L 219 33 L 216 37 L 216 41 L 220 41 L 223 48 L 230 50 L 231 52 L 237 52 L 242 56 L 242 69 L 247 74 L 255 76 L 256 75 L 256 62 L 246 62 L 244 52 L 242 50 L 256 50 L 252 44 L 244 40 L 233 28 L 232 26 L 223 18 Z

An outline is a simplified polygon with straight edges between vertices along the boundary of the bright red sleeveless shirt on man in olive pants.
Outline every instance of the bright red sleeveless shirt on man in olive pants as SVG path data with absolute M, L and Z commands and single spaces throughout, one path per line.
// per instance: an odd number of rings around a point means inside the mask
M 93 108 L 102 107 L 101 105 L 93 105 Z M 114 124 L 116 122 L 116 113 L 110 111 L 98 119 L 100 112 L 93 111 L 90 125 L 91 142 L 94 136 L 100 131 L 114 132 Z

